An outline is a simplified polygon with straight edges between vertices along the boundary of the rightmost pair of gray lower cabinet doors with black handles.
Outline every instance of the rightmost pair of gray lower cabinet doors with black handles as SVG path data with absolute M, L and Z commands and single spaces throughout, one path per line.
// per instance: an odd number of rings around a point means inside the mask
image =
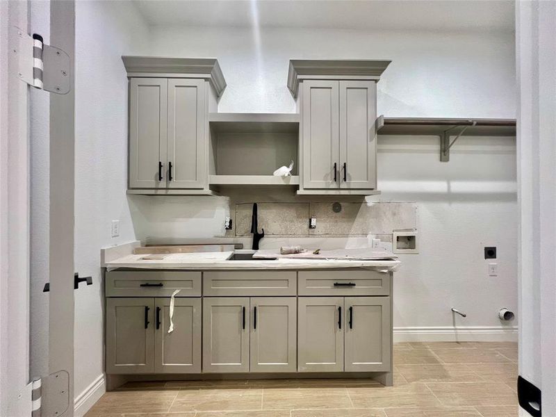
M 390 297 L 300 297 L 300 372 L 391 370 Z

